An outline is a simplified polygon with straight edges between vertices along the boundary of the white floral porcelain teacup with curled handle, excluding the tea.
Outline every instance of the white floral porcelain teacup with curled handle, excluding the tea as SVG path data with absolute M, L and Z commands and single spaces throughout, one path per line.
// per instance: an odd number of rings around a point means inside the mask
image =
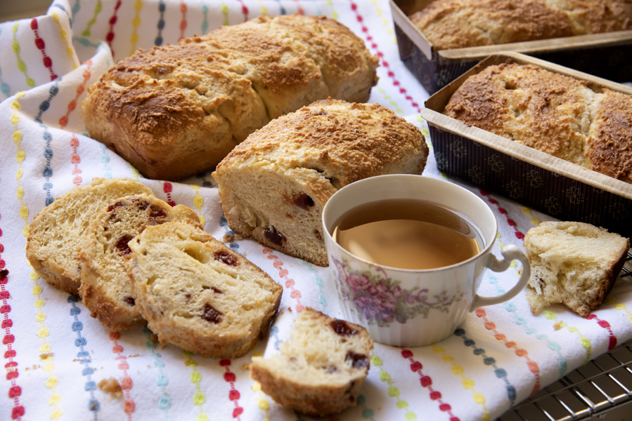
M 423 199 L 462 213 L 482 234 L 474 257 L 437 269 L 397 269 L 377 265 L 345 250 L 333 239 L 344 213 L 363 203 L 385 199 Z M 376 342 L 420 347 L 444 340 L 468 312 L 514 297 L 529 281 L 529 261 L 520 248 L 491 253 L 498 225 L 494 214 L 472 192 L 451 182 L 421 175 L 380 175 L 347 185 L 330 197 L 323 209 L 325 246 L 345 318 L 367 328 Z M 503 272 L 512 260 L 522 262 L 522 276 L 497 297 L 477 294 L 483 272 Z

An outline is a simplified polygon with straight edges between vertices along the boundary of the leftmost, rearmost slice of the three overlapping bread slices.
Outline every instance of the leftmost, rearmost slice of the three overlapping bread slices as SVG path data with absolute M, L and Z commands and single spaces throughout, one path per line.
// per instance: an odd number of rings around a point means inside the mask
M 30 225 L 26 257 L 33 270 L 55 288 L 78 295 L 81 269 L 75 256 L 84 232 L 110 201 L 131 194 L 153 195 L 134 180 L 93 178 L 56 198 Z

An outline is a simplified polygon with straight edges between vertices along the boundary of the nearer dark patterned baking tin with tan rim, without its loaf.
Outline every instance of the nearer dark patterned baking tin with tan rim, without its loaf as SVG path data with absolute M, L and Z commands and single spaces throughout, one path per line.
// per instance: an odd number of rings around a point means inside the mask
M 632 185 L 441 114 L 456 89 L 489 65 L 512 60 L 632 95 L 632 88 L 520 53 L 491 55 L 425 102 L 439 171 L 560 220 L 588 222 L 632 236 Z

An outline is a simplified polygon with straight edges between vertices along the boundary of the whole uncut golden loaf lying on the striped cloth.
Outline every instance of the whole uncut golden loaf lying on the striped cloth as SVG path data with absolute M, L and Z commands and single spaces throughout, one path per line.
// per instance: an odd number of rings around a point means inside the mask
M 260 16 L 136 51 L 88 88 L 82 112 L 89 135 L 147 178 L 178 180 L 315 100 L 365 102 L 377 67 L 335 20 Z

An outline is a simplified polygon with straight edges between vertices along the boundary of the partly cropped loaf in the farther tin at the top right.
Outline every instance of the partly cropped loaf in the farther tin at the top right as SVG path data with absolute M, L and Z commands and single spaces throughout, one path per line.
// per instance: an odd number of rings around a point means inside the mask
M 632 29 L 632 3 L 437 0 L 410 18 L 439 51 Z

